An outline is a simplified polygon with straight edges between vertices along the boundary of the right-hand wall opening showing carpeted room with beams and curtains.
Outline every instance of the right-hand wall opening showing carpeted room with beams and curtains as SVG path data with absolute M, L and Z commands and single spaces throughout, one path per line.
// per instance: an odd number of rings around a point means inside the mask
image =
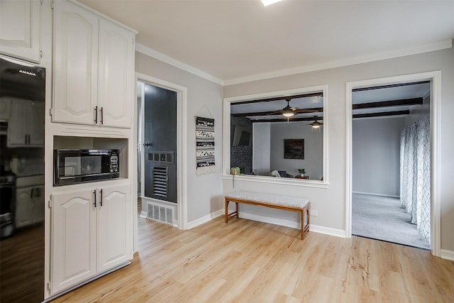
M 352 92 L 352 235 L 431 248 L 429 80 Z

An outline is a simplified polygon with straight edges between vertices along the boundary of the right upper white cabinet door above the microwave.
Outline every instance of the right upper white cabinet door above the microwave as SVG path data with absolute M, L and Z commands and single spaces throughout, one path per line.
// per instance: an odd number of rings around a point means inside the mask
M 98 106 L 102 124 L 131 128 L 134 103 L 134 34 L 114 23 L 99 21 Z

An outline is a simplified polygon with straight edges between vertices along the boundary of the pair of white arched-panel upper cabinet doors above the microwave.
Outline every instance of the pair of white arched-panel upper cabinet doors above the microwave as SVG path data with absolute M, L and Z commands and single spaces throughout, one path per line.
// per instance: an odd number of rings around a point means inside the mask
M 55 2 L 52 121 L 131 128 L 135 33 Z

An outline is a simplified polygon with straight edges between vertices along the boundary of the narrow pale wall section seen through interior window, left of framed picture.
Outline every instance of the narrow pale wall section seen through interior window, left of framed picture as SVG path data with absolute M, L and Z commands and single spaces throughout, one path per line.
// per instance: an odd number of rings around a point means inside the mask
M 253 123 L 253 172 L 270 175 L 271 123 Z

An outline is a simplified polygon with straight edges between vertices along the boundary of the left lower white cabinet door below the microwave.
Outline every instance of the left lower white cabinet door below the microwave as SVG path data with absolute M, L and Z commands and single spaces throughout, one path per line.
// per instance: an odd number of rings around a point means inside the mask
M 96 275 L 93 199 L 91 191 L 52 195 L 52 294 Z

